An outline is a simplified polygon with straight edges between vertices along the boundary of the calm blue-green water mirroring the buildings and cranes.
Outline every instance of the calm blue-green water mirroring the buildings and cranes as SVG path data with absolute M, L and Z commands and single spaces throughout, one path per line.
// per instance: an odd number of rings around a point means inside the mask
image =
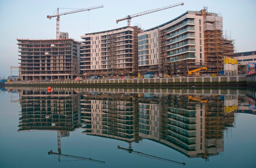
M 246 92 L 2 88 L 0 167 L 255 167 Z

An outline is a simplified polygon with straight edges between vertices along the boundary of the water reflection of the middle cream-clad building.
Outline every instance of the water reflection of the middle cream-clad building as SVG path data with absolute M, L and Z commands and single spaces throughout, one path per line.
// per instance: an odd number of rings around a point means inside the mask
M 137 98 L 126 94 L 82 93 L 84 133 L 138 142 Z

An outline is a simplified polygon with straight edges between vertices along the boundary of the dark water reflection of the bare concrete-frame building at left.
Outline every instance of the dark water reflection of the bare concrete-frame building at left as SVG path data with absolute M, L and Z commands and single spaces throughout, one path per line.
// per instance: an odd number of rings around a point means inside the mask
M 73 131 L 80 125 L 78 95 L 69 91 L 21 91 L 21 130 Z

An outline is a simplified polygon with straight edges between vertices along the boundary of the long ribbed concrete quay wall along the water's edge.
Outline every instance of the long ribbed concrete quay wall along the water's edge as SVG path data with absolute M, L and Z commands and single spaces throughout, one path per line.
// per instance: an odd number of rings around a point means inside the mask
M 151 79 L 99 79 L 83 81 L 51 81 L 51 82 L 5 82 L 5 85 L 36 85 L 36 86 L 246 86 L 245 76 L 219 77 L 184 77 L 184 78 L 151 78 Z

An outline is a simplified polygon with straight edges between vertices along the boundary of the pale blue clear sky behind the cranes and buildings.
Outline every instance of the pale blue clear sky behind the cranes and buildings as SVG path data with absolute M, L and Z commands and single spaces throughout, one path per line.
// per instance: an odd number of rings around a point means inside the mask
M 145 3 L 147 2 L 147 3 Z M 56 38 L 56 18 L 47 19 L 47 15 L 75 9 L 104 5 L 103 8 L 89 12 L 78 12 L 60 16 L 60 31 L 68 32 L 70 38 L 82 41 L 85 33 L 104 31 L 124 27 L 127 22 L 116 24 L 116 19 L 127 15 L 148 11 L 182 1 L 118 1 L 118 0 L 0 0 L 0 77 L 10 76 L 10 66 L 19 66 L 17 38 L 54 39 Z M 186 11 L 200 11 L 204 6 L 208 12 L 220 13 L 223 16 L 223 31 L 235 39 L 237 52 L 256 50 L 255 0 L 184 0 L 183 6 L 132 18 L 131 26 L 139 25 L 144 30 L 158 26 L 180 16 Z M 18 70 L 14 70 L 18 75 Z

